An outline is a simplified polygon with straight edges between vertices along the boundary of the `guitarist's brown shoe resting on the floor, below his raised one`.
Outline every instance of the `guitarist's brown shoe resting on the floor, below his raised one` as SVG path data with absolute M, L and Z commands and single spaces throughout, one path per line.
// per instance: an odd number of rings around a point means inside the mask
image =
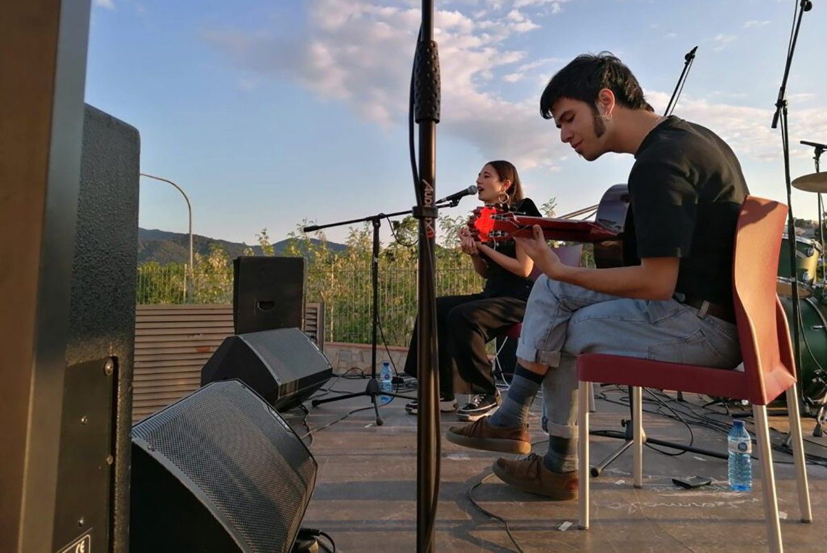
M 577 473 L 552 472 L 543 464 L 543 457 L 536 453 L 523 459 L 500 457 L 491 469 L 505 484 L 523 492 L 537 493 L 556 501 L 577 497 Z

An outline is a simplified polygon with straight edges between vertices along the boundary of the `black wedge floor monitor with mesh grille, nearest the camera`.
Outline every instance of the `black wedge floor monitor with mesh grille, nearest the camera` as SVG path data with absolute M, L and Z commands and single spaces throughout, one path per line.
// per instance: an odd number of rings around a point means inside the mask
M 318 466 L 237 380 L 132 427 L 131 553 L 290 551 Z

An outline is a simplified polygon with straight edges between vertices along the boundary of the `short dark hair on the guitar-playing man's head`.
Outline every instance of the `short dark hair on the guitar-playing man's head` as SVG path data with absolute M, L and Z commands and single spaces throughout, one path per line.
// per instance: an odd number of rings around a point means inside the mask
M 597 94 L 604 88 L 614 93 L 615 100 L 624 107 L 653 111 L 643 98 L 638 79 L 611 52 L 581 54 L 563 69 L 557 71 L 548 81 L 540 98 L 540 113 L 546 119 L 552 118 L 552 106 L 560 98 L 571 98 L 586 102 L 597 112 Z

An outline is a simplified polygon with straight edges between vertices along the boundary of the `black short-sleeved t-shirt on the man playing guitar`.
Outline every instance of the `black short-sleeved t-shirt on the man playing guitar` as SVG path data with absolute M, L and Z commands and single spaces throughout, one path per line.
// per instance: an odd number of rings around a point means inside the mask
M 729 145 L 667 117 L 643 139 L 629 174 L 628 259 L 679 257 L 676 292 L 731 305 L 735 224 L 747 194 Z

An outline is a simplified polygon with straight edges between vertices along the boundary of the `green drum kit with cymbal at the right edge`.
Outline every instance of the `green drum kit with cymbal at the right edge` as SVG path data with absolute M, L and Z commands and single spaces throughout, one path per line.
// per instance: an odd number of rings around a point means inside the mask
M 815 435 L 820 436 L 827 421 L 827 278 L 825 278 L 824 207 L 821 193 L 827 193 L 827 173 L 818 172 L 818 158 L 825 145 L 802 142 L 815 146 L 815 169 L 792 180 L 792 186 L 817 194 L 819 221 L 812 238 L 782 236 L 781 254 L 778 260 L 777 293 L 790 326 L 792 321 L 793 287 L 798 291 L 799 312 L 799 379 L 801 407 L 817 423 Z M 795 267 L 790 266 L 790 249 L 795 249 Z

